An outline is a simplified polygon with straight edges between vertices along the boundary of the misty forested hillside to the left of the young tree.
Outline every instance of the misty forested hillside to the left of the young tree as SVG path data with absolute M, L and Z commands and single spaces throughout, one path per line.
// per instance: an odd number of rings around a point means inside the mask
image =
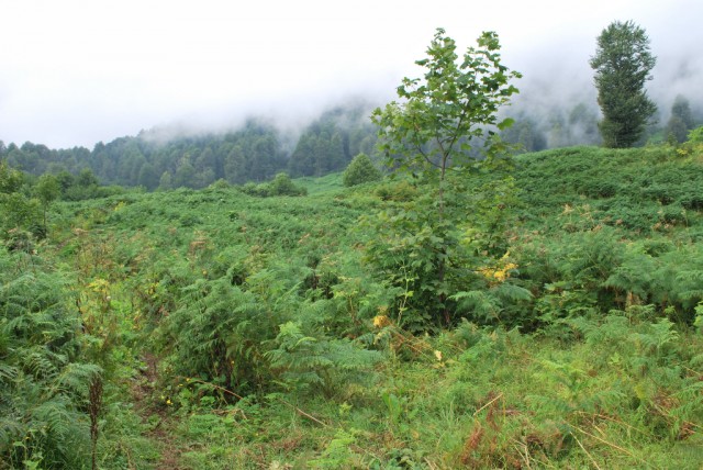
M 92 150 L 0 145 L 0 159 L 35 176 L 49 172 L 70 179 L 89 170 L 103 184 L 141 186 L 148 191 L 204 188 L 219 179 L 234 184 L 261 182 L 281 171 L 321 176 L 343 170 L 359 153 L 373 154 L 376 131 L 368 120 L 369 108 L 332 109 L 295 135 L 250 119 L 237 130 L 219 134 L 144 131 L 135 137 L 98 143 Z

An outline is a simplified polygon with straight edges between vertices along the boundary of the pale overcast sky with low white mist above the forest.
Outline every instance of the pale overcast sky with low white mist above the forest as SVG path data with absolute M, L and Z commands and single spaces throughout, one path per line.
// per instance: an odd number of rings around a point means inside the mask
M 172 123 L 304 120 L 355 96 L 380 104 L 421 74 L 438 26 L 460 51 L 498 32 L 531 102 L 594 97 L 588 60 L 614 20 L 647 31 L 654 98 L 703 88 L 701 0 L 0 0 L 0 18 L 5 144 L 92 148 Z

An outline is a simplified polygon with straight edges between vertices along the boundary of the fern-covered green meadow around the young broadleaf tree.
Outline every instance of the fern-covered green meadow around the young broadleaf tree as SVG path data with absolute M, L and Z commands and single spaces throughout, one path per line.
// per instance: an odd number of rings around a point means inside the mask
M 500 249 L 429 336 L 358 220 L 431 182 L 56 201 L 47 239 L 4 232 L 4 468 L 696 468 L 702 161 L 574 147 L 477 172 L 460 243 Z

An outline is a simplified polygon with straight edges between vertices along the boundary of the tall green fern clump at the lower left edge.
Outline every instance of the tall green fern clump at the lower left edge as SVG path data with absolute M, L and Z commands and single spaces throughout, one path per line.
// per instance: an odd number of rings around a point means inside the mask
M 0 251 L 0 265 L 10 256 Z M 66 309 L 66 280 L 48 270 L 9 276 L 0 272 L 0 460 L 14 468 L 87 467 L 82 409 L 101 370 L 80 361 L 80 320 Z

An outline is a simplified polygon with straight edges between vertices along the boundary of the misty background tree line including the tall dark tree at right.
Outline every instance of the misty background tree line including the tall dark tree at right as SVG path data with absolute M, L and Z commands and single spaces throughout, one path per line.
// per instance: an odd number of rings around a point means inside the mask
M 518 152 L 683 143 L 689 131 L 703 123 L 703 115 L 696 115 L 688 98 L 678 96 L 668 121 L 657 122 L 658 107 L 644 87 L 655 64 L 645 30 L 632 21 L 613 22 L 596 38 L 595 55 L 590 59 L 598 105 L 560 103 L 546 114 L 518 107 L 512 115 L 504 113 L 514 125 L 500 130 L 499 135 L 516 144 Z M 368 119 L 371 108 L 364 102 L 333 108 L 298 136 L 270 122 L 249 119 L 226 133 L 164 138 L 159 130 L 143 131 L 108 144 L 100 142 L 92 150 L 49 149 L 31 142 L 5 146 L 0 141 L 0 160 L 30 175 L 56 175 L 64 199 L 98 195 L 89 188 L 99 182 L 153 191 L 199 189 L 217 180 L 260 183 L 281 172 L 319 177 L 345 169 L 359 154 L 376 163 L 382 159 L 376 148 L 377 128 Z

